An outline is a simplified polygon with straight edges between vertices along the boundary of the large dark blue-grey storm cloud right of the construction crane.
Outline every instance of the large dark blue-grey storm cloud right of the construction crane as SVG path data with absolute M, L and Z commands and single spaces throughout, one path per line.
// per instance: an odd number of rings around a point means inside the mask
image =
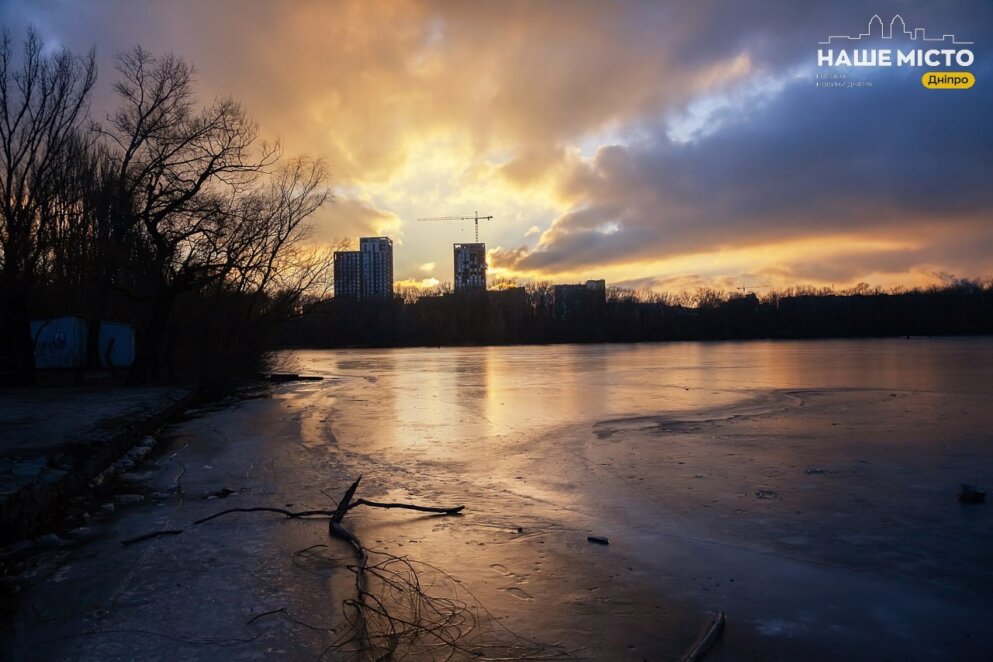
M 973 73 L 990 80 L 984 38 L 993 34 L 963 29 L 977 41 Z M 808 37 L 802 54 L 813 52 Z M 933 242 L 945 223 L 978 233 L 993 218 L 993 92 L 928 91 L 922 72 L 876 72 L 871 89 L 852 90 L 818 89 L 808 73 L 769 100 L 732 104 L 711 118 L 715 132 L 685 143 L 655 123 L 640 142 L 601 148 L 573 167 L 562 189 L 577 211 L 557 219 L 535 251 L 496 257 L 523 271 L 575 270 L 805 236 Z M 972 256 L 987 249 L 976 242 Z M 872 268 L 873 256 L 859 259 Z

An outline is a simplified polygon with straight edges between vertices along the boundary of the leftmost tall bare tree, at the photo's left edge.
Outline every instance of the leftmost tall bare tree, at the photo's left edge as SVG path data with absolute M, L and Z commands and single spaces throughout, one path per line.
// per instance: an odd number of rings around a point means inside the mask
M 51 236 L 59 162 L 79 139 L 96 82 L 94 51 L 46 54 L 29 29 L 19 61 L 0 38 L 0 306 L 20 380 L 33 380 L 30 301 Z

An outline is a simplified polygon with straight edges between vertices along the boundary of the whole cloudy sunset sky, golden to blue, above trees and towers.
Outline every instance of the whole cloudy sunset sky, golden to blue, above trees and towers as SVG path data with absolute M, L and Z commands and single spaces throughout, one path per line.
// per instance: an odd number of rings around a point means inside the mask
M 928 69 L 815 86 L 818 41 L 873 13 L 974 41 Z M 15 39 L 95 46 L 92 114 L 134 44 L 198 70 L 288 153 L 327 160 L 316 239 L 385 234 L 398 280 L 491 275 L 678 291 L 993 275 L 993 3 L 7 0 Z M 953 68 L 954 70 L 954 68 Z

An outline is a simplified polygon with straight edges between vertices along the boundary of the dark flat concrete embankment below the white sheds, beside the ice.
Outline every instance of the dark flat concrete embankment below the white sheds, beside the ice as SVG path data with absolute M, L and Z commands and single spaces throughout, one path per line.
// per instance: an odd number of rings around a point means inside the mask
M 0 391 L 0 544 L 43 530 L 193 398 L 181 388 Z

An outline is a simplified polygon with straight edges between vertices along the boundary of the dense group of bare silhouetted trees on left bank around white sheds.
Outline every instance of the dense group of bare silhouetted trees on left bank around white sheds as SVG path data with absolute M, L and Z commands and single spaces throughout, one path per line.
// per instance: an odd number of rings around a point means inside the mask
M 0 376 L 31 383 L 29 321 L 74 314 L 137 327 L 132 382 L 223 379 L 328 282 L 334 247 L 304 244 L 325 167 L 282 158 L 236 101 L 197 102 L 175 55 L 115 69 L 93 121 L 93 51 L 0 41 Z

